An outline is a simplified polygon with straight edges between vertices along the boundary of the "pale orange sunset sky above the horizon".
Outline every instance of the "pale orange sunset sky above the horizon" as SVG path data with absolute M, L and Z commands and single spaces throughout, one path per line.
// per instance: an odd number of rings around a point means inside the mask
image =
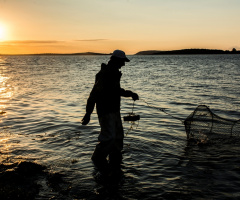
M 0 54 L 240 49 L 240 0 L 0 0 Z

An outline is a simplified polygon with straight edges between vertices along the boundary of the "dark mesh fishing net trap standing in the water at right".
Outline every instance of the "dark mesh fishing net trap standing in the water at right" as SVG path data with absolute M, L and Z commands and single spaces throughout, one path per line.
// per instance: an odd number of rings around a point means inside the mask
M 240 120 L 219 117 L 205 105 L 199 105 L 184 124 L 188 139 L 208 140 L 240 136 Z

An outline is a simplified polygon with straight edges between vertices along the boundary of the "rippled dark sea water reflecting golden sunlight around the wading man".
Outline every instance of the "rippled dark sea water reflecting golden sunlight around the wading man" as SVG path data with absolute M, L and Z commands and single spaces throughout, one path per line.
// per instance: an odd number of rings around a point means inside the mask
M 96 112 L 80 121 L 95 74 L 108 56 L 1 56 L 1 163 L 34 161 L 70 185 L 42 185 L 38 199 L 239 199 L 240 141 L 188 145 L 181 121 L 199 104 L 240 117 L 240 55 L 130 56 L 121 86 L 139 94 L 139 123 L 124 122 L 123 176 L 96 180 L 91 154 L 100 130 Z M 145 102 L 148 102 L 149 107 Z M 122 99 L 122 116 L 132 111 Z

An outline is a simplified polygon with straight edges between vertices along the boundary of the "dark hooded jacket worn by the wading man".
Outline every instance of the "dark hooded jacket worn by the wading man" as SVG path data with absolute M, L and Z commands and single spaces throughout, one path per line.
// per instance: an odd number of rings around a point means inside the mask
M 96 74 L 95 84 L 87 100 L 87 113 L 93 112 L 95 104 L 99 117 L 120 111 L 121 96 L 130 97 L 133 94 L 121 88 L 121 76 L 122 73 L 111 64 L 101 65 L 101 70 Z

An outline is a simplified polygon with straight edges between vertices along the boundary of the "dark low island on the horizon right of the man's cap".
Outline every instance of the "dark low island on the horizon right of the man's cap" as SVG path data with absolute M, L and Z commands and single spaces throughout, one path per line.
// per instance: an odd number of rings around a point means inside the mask
M 218 50 L 218 49 L 181 49 L 172 51 L 139 51 L 135 55 L 184 55 L 184 54 L 240 54 L 235 48 L 232 51 Z

